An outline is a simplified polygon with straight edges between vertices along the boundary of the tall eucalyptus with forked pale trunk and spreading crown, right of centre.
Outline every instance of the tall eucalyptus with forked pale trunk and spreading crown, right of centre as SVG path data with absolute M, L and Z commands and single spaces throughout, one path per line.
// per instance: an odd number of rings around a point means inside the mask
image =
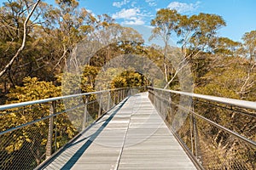
M 185 67 L 189 66 L 188 59 L 191 61 L 198 54 L 212 52 L 214 42 L 217 37 L 218 29 L 225 26 L 221 16 L 216 14 L 194 14 L 192 16 L 178 14 L 176 10 L 169 8 L 160 9 L 154 20 L 152 37 L 161 37 L 165 42 L 164 49 L 164 71 L 166 75 L 166 88 L 171 84 L 177 74 Z M 177 44 L 181 45 L 183 54 L 175 67 L 175 72 L 169 79 L 170 72 L 166 65 L 167 47 L 170 39 L 178 38 Z

